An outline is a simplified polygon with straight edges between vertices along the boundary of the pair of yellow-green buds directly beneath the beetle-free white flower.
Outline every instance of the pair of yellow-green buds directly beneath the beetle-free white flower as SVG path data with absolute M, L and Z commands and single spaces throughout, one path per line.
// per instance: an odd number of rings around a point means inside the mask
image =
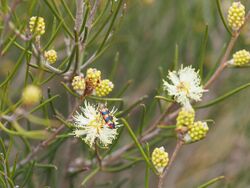
M 176 131 L 181 134 L 181 139 L 185 143 L 199 141 L 206 137 L 209 130 L 206 122 L 195 122 L 194 110 L 182 109 L 176 119 Z

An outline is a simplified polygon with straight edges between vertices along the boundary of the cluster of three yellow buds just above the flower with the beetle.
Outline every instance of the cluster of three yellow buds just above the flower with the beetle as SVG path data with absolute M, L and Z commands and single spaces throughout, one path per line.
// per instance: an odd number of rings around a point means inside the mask
M 84 82 L 84 83 L 83 83 Z M 101 71 L 89 68 L 85 78 L 75 76 L 72 81 L 73 89 L 80 95 L 95 94 L 99 97 L 107 96 L 114 88 L 114 84 L 108 80 L 101 79 Z

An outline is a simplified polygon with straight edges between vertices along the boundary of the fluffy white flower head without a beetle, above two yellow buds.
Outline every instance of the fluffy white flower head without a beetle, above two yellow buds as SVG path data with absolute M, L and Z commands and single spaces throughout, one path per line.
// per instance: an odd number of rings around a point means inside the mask
M 164 89 L 167 90 L 170 96 L 173 96 L 176 102 L 180 103 L 187 109 L 192 108 L 190 101 L 200 101 L 203 92 L 199 71 L 191 66 L 184 67 L 181 65 L 178 71 L 169 71 L 169 82 L 163 80 Z

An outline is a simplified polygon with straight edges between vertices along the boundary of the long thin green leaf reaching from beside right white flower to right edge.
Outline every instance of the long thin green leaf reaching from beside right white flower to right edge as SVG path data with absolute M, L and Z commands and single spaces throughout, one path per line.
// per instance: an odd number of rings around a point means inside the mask
M 240 92 L 241 90 L 244 90 L 244 89 L 248 88 L 249 86 L 250 86 L 250 83 L 247 83 L 245 85 L 242 85 L 242 86 L 240 86 L 240 87 L 238 87 L 238 88 L 236 88 L 236 89 L 234 89 L 232 91 L 229 91 L 228 93 L 226 93 L 226 94 L 224 94 L 224 95 L 222 95 L 222 96 L 220 96 L 220 97 L 218 97 L 218 98 L 216 98 L 216 99 L 208 102 L 207 104 L 200 105 L 200 106 L 195 106 L 194 108 L 199 109 L 199 108 L 210 107 L 210 106 L 212 106 L 214 104 L 217 104 L 217 103 L 219 103 L 219 102 L 221 102 L 221 101 L 223 101 L 223 100 L 231 97 L 232 95 Z

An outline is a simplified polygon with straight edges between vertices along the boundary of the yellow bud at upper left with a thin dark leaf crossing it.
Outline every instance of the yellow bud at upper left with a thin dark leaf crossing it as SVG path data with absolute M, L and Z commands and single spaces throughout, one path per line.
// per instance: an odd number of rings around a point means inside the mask
M 42 17 L 32 16 L 29 21 L 29 29 L 36 36 L 43 35 L 45 33 L 44 19 Z

